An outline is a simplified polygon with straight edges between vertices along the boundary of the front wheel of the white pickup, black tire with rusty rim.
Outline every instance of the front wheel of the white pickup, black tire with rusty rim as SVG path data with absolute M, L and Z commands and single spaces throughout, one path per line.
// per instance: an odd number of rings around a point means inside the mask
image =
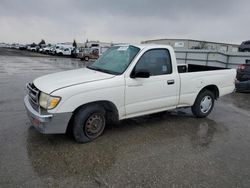
M 102 106 L 85 106 L 74 116 L 73 136 L 79 143 L 90 142 L 102 134 L 105 123 L 105 109 Z

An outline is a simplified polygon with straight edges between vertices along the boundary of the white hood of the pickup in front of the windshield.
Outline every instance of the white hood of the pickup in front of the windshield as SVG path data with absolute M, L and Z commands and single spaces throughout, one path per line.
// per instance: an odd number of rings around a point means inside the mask
M 50 94 L 61 88 L 112 77 L 114 75 L 82 68 L 45 75 L 35 79 L 33 83 L 40 91 Z

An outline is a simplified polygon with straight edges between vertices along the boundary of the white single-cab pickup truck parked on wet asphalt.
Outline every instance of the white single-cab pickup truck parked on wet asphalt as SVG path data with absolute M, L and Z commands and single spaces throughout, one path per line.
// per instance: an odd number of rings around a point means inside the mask
M 72 130 L 83 143 L 112 121 L 180 107 L 206 117 L 215 99 L 234 91 L 235 77 L 234 69 L 177 66 L 170 46 L 121 45 L 86 68 L 35 79 L 24 102 L 40 132 Z

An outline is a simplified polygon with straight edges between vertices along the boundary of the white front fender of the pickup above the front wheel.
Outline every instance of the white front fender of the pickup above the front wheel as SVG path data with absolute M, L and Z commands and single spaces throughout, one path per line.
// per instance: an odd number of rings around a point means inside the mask
M 53 95 L 61 96 L 62 99 L 59 105 L 49 113 L 72 113 L 84 104 L 109 101 L 116 106 L 119 118 L 125 116 L 124 84 L 121 84 L 119 80 L 112 80 L 99 81 L 98 85 L 93 82 L 80 84 L 53 92 Z

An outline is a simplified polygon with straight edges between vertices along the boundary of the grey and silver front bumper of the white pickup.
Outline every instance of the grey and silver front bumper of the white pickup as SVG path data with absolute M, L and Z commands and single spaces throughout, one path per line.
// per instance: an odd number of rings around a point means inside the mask
M 25 96 L 24 105 L 31 124 L 43 134 L 63 134 L 67 130 L 72 113 L 40 114 Z

